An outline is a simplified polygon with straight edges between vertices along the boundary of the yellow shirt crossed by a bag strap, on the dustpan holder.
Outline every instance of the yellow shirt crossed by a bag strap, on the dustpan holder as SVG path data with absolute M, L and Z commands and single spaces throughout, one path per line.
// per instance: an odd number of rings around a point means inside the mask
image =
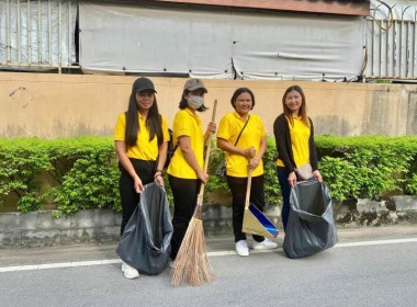
M 226 114 L 218 126 L 217 137 L 226 139 L 229 144 L 235 145 L 235 141 L 245 125 L 245 121 L 241 120 L 237 112 Z M 258 115 L 250 114 L 250 120 L 246 125 L 239 141 L 236 147 L 249 148 L 255 147 L 257 152 L 259 151 L 259 145 L 262 137 L 264 137 L 264 127 L 261 118 Z M 227 174 L 232 177 L 248 177 L 248 159 L 241 155 L 229 154 L 225 151 L 226 156 L 226 170 Z M 259 166 L 252 170 L 252 177 L 263 174 L 263 162 L 259 162 Z

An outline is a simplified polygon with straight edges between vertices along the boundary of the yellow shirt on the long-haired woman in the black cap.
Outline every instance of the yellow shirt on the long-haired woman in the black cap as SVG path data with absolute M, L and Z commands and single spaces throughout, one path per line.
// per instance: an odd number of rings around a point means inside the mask
M 158 158 L 158 139 L 155 136 L 153 140 L 149 141 L 149 130 L 146 126 L 146 120 L 139 116 L 139 133 L 137 134 L 136 145 L 127 148 L 127 157 L 133 159 L 140 159 L 147 161 L 155 161 Z M 162 134 L 164 141 L 169 140 L 167 120 L 162 117 Z M 125 140 L 126 130 L 126 115 L 123 113 L 119 115 L 116 128 L 114 130 L 114 140 Z

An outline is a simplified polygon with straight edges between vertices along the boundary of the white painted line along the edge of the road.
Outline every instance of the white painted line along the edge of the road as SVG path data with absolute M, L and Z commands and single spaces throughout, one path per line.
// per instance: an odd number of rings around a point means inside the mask
M 365 247 L 365 246 L 381 246 L 381 245 L 396 245 L 396 243 L 412 243 L 417 242 L 417 238 L 408 239 L 392 239 L 392 240 L 374 240 L 374 241 L 359 241 L 359 242 L 346 242 L 337 243 L 335 248 L 350 248 L 350 247 Z M 262 253 L 262 252 L 277 252 L 283 251 L 282 248 L 274 250 L 251 250 L 250 253 Z M 208 257 L 223 257 L 236 254 L 235 251 L 211 251 L 207 252 Z M 122 263 L 121 259 L 109 259 L 109 260 L 94 260 L 94 261 L 74 261 L 74 262 L 60 262 L 60 263 L 46 263 L 46 264 L 35 264 L 35 265 L 16 265 L 16 266 L 3 266 L 0 268 L 0 273 L 4 272 L 18 272 L 18 271 L 33 271 L 33 270 L 46 270 L 46 269 L 63 269 L 63 268 L 77 268 L 77 266 L 91 266 L 91 265 L 105 265 Z

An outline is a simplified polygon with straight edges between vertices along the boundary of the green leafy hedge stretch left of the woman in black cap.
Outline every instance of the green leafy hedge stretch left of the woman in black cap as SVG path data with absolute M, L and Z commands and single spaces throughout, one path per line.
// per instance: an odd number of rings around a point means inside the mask
M 18 195 L 18 209 L 36 211 L 49 200 L 64 214 L 120 211 L 119 170 L 111 138 L 0 139 L 0 195 Z M 54 184 L 43 184 L 49 175 Z

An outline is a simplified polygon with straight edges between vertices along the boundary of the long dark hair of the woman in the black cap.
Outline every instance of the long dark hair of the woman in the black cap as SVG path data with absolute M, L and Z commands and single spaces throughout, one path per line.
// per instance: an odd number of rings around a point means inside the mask
M 158 139 L 158 146 L 164 141 L 162 134 L 162 117 L 158 111 L 158 103 L 155 93 L 154 104 L 149 109 L 148 116 L 146 117 L 146 126 L 149 129 L 149 141 L 156 136 Z M 133 147 L 137 143 L 137 134 L 139 133 L 139 106 L 136 102 L 136 91 L 132 89 L 131 98 L 128 100 L 128 107 L 126 114 L 126 130 L 125 143 L 127 147 Z

